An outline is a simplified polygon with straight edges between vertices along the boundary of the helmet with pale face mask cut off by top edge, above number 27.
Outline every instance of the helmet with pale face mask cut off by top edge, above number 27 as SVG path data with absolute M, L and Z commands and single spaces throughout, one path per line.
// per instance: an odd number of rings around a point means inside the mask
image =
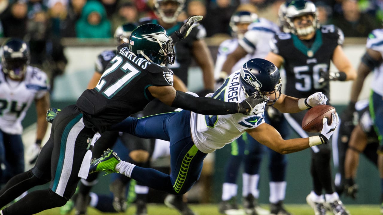
M 160 5 L 165 2 L 175 2 L 177 3 L 177 8 L 175 10 L 162 10 Z M 178 15 L 180 15 L 184 6 L 185 0 L 154 0 L 155 12 L 161 20 L 167 24 L 175 23 L 177 21 Z

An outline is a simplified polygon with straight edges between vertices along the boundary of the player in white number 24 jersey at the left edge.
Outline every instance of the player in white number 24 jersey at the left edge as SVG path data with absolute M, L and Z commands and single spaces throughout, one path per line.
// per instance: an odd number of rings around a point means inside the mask
M 21 122 L 33 102 L 37 130 L 36 141 L 26 151 L 29 164 L 36 162 L 47 130 L 49 80 L 46 73 L 29 65 L 30 57 L 28 45 L 20 39 L 10 38 L 0 49 L 0 187 L 25 171 Z

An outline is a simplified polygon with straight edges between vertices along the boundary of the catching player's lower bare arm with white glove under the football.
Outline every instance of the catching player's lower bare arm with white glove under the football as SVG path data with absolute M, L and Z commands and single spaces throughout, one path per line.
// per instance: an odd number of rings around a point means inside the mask
M 281 154 L 288 154 L 296 151 L 301 151 L 314 145 L 327 143 L 327 140 L 331 137 L 339 118 L 336 113 L 332 114 L 332 123 L 327 125 L 327 119 L 323 119 L 323 129 L 317 136 L 308 138 L 295 138 L 290 140 L 283 140 L 279 132 L 267 123 L 263 123 L 254 129 L 246 130 L 255 140 L 263 145 L 277 151 Z M 325 125 L 326 124 L 326 125 Z

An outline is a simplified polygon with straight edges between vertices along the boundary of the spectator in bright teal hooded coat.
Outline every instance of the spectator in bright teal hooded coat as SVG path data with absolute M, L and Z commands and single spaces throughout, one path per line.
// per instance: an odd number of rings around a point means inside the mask
M 111 37 L 111 24 L 100 2 L 90 0 L 84 5 L 80 19 L 76 22 L 76 35 L 79 38 Z

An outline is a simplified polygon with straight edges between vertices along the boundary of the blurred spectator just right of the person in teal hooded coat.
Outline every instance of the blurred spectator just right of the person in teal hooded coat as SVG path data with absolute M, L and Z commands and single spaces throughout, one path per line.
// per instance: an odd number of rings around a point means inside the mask
M 136 23 L 138 21 L 138 10 L 134 3 L 120 0 L 117 8 L 118 11 L 111 16 L 112 32 L 115 32 L 118 26 L 125 23 Z

